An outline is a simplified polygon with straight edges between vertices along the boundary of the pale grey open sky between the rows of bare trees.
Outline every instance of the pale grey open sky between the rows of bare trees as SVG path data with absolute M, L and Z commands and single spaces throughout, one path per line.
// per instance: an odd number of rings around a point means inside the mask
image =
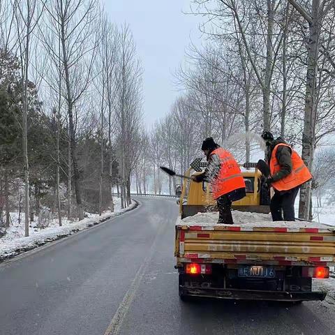
M 191 0 L 107 0 L 111 20 L 127 22 L 144 66 L 144 117 L 147 126 L 163 117 L 178 96 L 172 73 L 185 48 L 200 43 L 199 17 L 185 15 Z

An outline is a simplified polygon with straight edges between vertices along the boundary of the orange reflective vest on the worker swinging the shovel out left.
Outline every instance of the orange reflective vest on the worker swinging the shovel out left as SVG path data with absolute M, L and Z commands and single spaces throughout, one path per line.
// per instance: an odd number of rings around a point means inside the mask
M 217 199 L 221 195 L 230 193 L 238 188 L 246 187 L 241 169 L 235 161 L 235 158 L 223 148 L 215 149 L 211 155 L 217 155 L 221 161 L 221 169 L 218 176 L 211 181 L 211 190 L 213 198 Z

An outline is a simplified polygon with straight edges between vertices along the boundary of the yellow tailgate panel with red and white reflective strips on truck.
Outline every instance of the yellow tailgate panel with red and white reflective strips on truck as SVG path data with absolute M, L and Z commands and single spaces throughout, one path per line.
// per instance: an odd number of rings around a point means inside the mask
M 318 228 L 177 226 L 179 262 L 264 262 L 274 265 L 335 264 L 335 232 Z

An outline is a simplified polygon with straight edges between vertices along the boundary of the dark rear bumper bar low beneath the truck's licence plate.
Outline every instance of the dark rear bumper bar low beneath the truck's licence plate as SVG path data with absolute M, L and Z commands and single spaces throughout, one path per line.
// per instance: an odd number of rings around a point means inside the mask
M 187 297 L 208 297 L 216 299 L 313 301 L 324 300 L 327 293 L 236 290 L 222 288 L 185 288 L 183 286 L 179 286 L 179 295 Z

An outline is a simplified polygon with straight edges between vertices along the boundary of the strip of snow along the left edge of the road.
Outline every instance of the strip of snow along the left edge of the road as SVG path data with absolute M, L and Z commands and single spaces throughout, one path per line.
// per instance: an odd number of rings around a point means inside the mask
M 18 214 L 12 213 L 11 218 L 13 225 L 11 225 L 6 231 L 6 234 L 0 238 L 0 261 L 24 251 L 31 250 L 36 246 L 41 246 L 49 241 L 54 241 L 66 235 L 73 234 L 74 232 L 84 230 L 108 218 L 119 216 L 125 211 L 135 208 L 137 205 L 136 202 L 133 202 L 130 207 L 121 209 L 119 199 L 114 200 L 114 203 L 114 212 L 106 211 L 101 216 L 98 214 L 87 214 L 87 218 L 84 218 L 82 221 L 68 221 L 63 218 L 61 227 L 59 227 L 57 219 L 54 218 L 47 228 L 37 228 L 36 224 L 38 218 L 36 217 L 34 223 L 31 223 L 29 237 L 24 237 L 24 218 L 22 217 L 22 221 L 19 225 Z

